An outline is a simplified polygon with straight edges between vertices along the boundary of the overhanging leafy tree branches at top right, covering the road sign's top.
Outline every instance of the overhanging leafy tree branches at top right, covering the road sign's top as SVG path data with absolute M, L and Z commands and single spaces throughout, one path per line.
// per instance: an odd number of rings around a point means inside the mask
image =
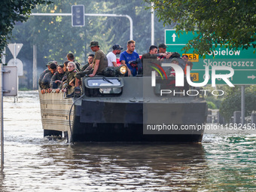
M 175 29 L 197 31 L 184 50 L 194 53 L 215 50 L 217 44 L 229 49 L 256 48 L 256 1 L 245 0 L 144 0 L 154 2 L 154 10 L 164 24 L 175 23 Z

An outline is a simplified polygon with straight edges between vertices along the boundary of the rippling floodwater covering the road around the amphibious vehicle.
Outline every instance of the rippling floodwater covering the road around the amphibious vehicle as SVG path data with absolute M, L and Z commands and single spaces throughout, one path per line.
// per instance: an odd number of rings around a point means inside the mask
M 254 191 L 256 135 L 202 144 L 75 143 L 43 138 L 38 92 L 4 99 L 0 191 Z

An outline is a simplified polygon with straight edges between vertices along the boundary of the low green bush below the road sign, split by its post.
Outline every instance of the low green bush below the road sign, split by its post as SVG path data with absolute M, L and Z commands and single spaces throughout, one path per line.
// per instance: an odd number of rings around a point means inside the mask
M 251 111 L 256 110 L 256 94 L 253 88 L 245 89 L 245 117 L 251 115 Z M 220 113 L 225 119 L 230 119 L 234 111 L 241 111 L 241 93 L 230 93 L 223 102 L 221 102 Z

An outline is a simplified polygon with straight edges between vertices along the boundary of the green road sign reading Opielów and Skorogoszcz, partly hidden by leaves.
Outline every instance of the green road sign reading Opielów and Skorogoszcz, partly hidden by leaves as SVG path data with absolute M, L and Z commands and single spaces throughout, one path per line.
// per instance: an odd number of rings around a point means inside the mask
M 197 33 L 183 32 L 178 36 L 174 29 L 166 30 L 165 43 L 168 46 L 167 52 L 178 52 L 184 54 L 181 49 L 187 44 L 187 41 L 193 39 Z M 229 66 L 234 69 L 234 75 L 230 78 L 232 84 L 256 84 L 256 53 L 254 48 L 250 47 L 248 50 L 230 50 L 218 45 L 215 48 L 214 54 L 209 53 L 203 59 L 197 54 L 193 53 L 191 49 L 187 54 L 189 60 L 193 62 L 191 76 L 194 77 L 195 82 L 203 82 L 206 66 L 209 66 L 209 73 L 212 73 L 212 66 Z M 213 58 L 215 55 L 215 58 Z M 226 72 L 227 73 L 227 72 Z M 229 73 L 229 72 L 228 72 Z M 225 73 L 223 73 L 225 74 Z M 208 84 L 212 84 L 209 80 Z M 224 81 L 216 81 L 216 84 L 226 84 Z

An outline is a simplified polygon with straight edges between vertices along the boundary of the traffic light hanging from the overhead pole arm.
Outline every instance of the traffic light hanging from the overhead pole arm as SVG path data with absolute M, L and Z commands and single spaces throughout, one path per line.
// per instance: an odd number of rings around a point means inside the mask
M 84 26 L 84 5 L 72 5 L 72 26 Z

